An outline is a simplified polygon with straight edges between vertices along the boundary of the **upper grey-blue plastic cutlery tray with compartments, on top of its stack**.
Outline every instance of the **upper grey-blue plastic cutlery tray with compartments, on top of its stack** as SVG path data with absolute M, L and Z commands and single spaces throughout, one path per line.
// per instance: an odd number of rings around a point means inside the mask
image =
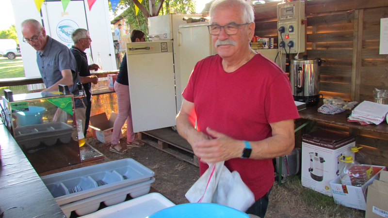
M 63 205 L 149 181 L 152 176 L 154 176 L 153 171 L 131 158 L 126 158 L 54 173 L 42 176 L 41 179 L 55 201 Z M 75 187 L 78 188 L 76 192 L 73 191 Z

